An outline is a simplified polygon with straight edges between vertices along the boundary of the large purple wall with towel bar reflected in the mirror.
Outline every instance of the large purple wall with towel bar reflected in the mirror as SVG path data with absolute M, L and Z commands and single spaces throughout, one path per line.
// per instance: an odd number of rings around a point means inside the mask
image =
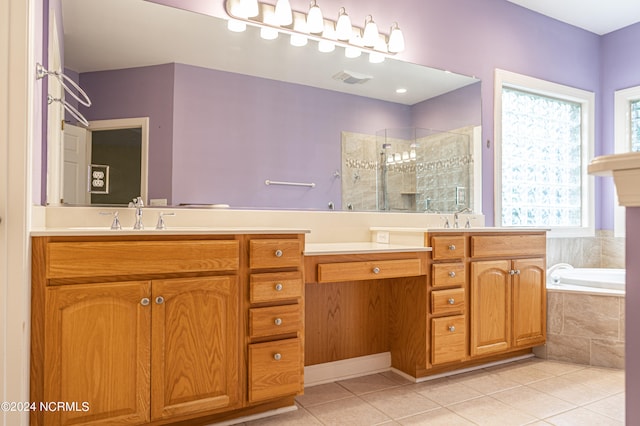
M 182 64 L 175 77 L 174 203 L 340 208 L 341 132 L 411 124 L 410 107 L 360 96 Z

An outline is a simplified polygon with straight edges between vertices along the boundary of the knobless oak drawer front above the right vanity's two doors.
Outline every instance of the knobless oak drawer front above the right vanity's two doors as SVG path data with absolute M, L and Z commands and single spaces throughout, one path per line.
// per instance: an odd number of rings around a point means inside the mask
M 534 235 L 474 235 L 471 237 L 472 257 L 512 257 L 544 255 L 547 238 Z

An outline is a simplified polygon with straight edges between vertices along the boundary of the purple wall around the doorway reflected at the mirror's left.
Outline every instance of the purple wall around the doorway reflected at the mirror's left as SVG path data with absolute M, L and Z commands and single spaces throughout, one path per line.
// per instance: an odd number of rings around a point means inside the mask
M 149 117 L 149 198 L 171 199 L 173 74 L 167 64 L 80 75 L 87 120 Z

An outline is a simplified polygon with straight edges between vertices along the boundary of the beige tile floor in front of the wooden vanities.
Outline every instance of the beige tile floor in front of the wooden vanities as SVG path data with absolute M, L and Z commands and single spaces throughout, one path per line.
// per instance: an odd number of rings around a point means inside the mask
M 624 370 L 531 358 L 422 383 L 392 372 L 308 387 L 278 425 L 624 425 Z

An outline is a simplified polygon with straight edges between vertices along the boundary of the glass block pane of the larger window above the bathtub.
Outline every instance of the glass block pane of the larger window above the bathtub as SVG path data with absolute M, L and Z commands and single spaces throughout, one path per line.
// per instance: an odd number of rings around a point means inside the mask
M 582 124 L 580 103 L 503 86 L 502 226 L 582 226 Z

